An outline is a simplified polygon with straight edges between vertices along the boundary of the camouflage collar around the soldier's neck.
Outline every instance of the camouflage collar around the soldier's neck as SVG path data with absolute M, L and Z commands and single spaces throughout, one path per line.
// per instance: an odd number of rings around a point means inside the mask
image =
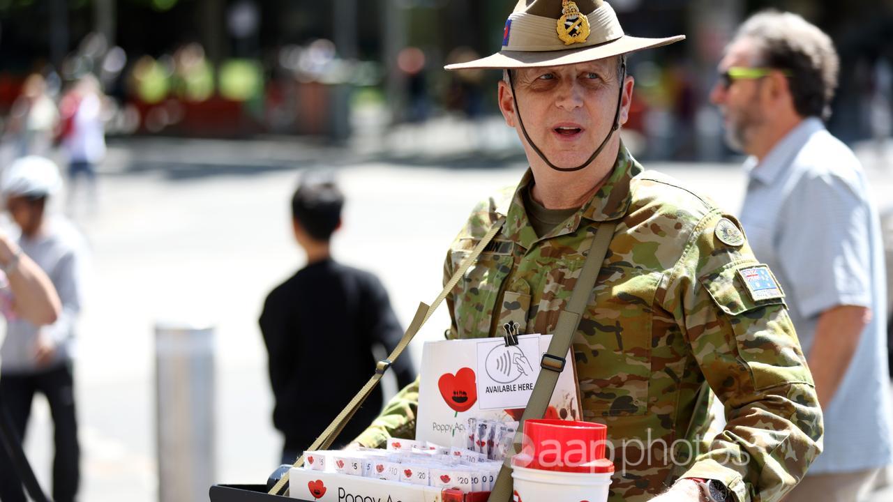
M 621 144 L 617 160 L 613 165 L 610 178 L 599 188 L 596 194 L 584 204 L 580 211 L 571 216 L 563 225 L 542 238 L 553 238 L 576 231 L 582 218 L 593 222 L 609 222 L 623 217 L 630 208 L 630 180 L 644 171 L 642 166 L 630 155 L 630 151 Z M 505 227 L 502 234 L 526 249 L 535 244 L 539 238 L 530 225 L 527 212 L 524 210 L 522 190 L 527 189 L 533 180 L 533 172 L 528 168 L 521 183 L 515 188 L 512 197 L 506 197 L 495 208 L 497 214 L 505 215 Z

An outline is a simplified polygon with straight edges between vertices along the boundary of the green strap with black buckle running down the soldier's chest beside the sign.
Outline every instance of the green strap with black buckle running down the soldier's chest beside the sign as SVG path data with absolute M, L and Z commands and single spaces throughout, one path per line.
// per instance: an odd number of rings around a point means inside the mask
M 537 383 L 533 386 L 533 393 L 530 394 L 530 400 L 522 414 L 521 425 L 514 436 L 514 452 L 518 453 L 521 448 L 521 442 L 524 431 L 524 422 L 529 418 L 542 418 L 546 413 L 552 392 L 555 391 L 555 383 L 558 382 L 558 375 L 564 369 L 564 356 L 567 356 L 567 350 L 571 347 L 573 334 L 577 331 L 580 324 L 580 318 L 589 297 L 592 296 L 592 289 L 596 285 L 598 272 L 602 269 L 602 263 L 605 262 L 608 245 L 611 244 L 614 229 L 617 227 L 616 222 L 602 223 L 598 226 L 596 237 L 592 239 L 592 247 L 589 247 L 589 254 L 586 256 L 586 263 L 583 264 L 583 270 L 580 271 L 580 278 L 577 285 L 571 293 L 571 300 L 567 306 L 558 314 L 558 322 L 555 324 L 555 332 L 552 334 L 552 341 L 549 343 L 546 354 L 543 355 L 540 366 L 546 372 L 539 372 Z M 506 456 L 502 468 L 499 470 L 497 481 L 490 491 L 488 502 L 508 502 L 512 499 L 512 456 Z

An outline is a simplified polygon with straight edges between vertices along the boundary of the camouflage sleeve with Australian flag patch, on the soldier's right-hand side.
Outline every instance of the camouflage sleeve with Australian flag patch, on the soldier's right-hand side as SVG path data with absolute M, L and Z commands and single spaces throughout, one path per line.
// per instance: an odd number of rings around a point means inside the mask
M 738 502 L 770 502 L 821 452 L 822 412 L 780 287 L 759 290 L 744 275 L 768 267 L 758 267 L 739 229 L 733 217 L 708 213 L 667 282 L 664 306 L 727 420 L 682 477 L 722 481 Z

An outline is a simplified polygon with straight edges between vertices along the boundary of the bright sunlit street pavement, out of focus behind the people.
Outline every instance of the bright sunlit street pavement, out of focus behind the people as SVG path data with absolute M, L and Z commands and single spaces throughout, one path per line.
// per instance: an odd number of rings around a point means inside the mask
M 435 147 L 425 141 L 446 147 L 443 138 L 458 132 L 419 134 L 414 145 L 421 152 Z M 499 141 L 511 144 L 510 138 Z M 458 146 L 448 166 L 423 159 L 421 167 L 413 166 L 418 157 L 412 153 L 379 159 L 356 151 L 277 140 L 154 138 L 113 144 L 101 170 L 96 214 L 80 219 L 95 269 L 76 366 L 83 500 L 157 499 L 153 326 L 158 321 L 216 327 L 216 479 L 262 483 L 276 467 L 280 438 L 271 425 L 256 318 L 271 287 L 303 264 L 288 221 L 298 169 L 338 171 L 348 204 L 335 255 L 379 274 L 406 325 L 418 302 L 429 303 L 438 294 L 441 260 L 472 205 L 514 184 L 525 168 L 511 147 L 494 154 L 503 160 L 493 160 L 488 169 L 482 167 L 488 155 L 463 154 Z M 872 149 L 864 150 L 868 166 L 874 165 L 871 155 Z M 743 197 L 745 178 L 734 163 L 647 167 L 688 182 L 733 212 Z M 889 194 L 893 172 L 872 167 L 869 172 L 875 195 Z M 419 339 L 438 339 L 446 323 L 441 308 Z M 418 367 L 421 340 L 413 344 L 412 356 Z M 39 397 L 27 451 L 45 487 L 51 423 Z M 881 499 L 889 500 L 876 498 Z

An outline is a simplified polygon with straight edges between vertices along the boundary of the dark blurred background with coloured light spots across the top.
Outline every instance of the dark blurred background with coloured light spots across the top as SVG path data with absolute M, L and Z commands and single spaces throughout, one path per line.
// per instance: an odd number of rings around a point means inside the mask
M 373 124 L 497 113 L 496 72 L 445 63 L 498 47 L 514 0 L 0 0 L 0 115 L 38 71 L 51 92 L 85 72 L 113 99 L 110 135 L 334 141 Z M 720 120 L 706 96 L 725 41 L 747 13 L 802 13 L 838 46 L 830 130 L 847 141 L 893 127 L 889 0 L 614 0 L 640 36 L 689 42 L 631 60 L 627 136 L 642 157 L 716 160 Z M 636 134 L 638 133 L 638 134 Z

